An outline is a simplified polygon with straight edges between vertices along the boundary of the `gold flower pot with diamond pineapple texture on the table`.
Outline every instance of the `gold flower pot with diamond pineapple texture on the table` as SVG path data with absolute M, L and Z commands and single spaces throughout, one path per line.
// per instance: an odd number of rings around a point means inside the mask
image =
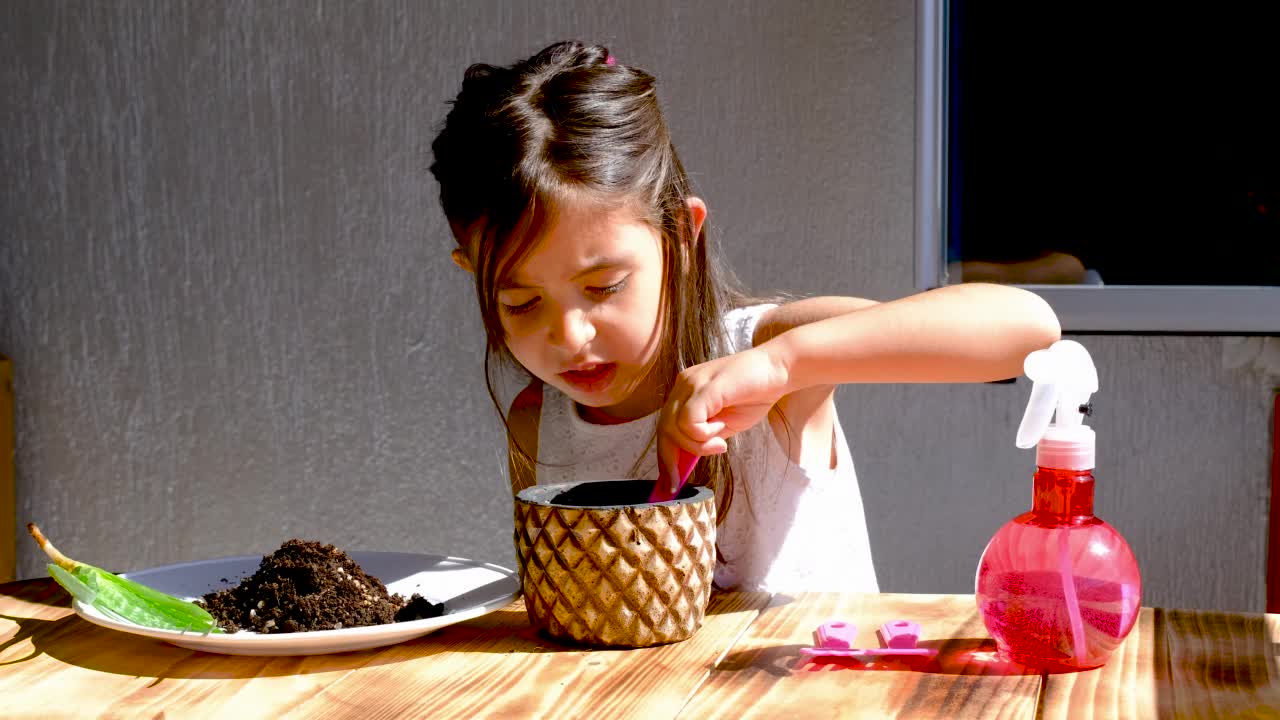
M 590 646 L 682 641 L 703 624 L 716 569 L 716 496 L 653 480 L 534 486 L 516 496 L 520 584 L 534 626 Z

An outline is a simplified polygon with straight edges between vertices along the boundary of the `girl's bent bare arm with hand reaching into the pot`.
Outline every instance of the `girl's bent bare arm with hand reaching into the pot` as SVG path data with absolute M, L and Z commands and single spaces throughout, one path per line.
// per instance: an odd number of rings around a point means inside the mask
M 826 462 L 836 386 L 1012 378 L 1029 352 L 1060 336 L 1048 304 L 1007 286 L 947 286 L 883 304 L 815 297 L 783 305 L 760 318 L 754 348 L 680 374 L 659 418 L 659 459 L 669 469 L 676 446 L 723 452 L 723 438 L 768 415 L 792 460 Z

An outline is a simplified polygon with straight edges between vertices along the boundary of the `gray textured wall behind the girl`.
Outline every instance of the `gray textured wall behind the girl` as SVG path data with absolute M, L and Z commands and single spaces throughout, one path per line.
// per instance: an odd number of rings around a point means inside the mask
M 660 78 L 756 290 L 913 291 L 909 0 L 5 3 L 19 520 L 120 570 L 294 536 L 509 564 L 483 337 L 426 149 L 467 64 L 563 37 Z M 1260 610 L 1268 388 L 1220 338 L 1084 341 L 1098 510 L 1147 603 Z M 972 592 L 1029 503 L 1027 392 L 841 389 L 884 589 Z M 42 574 L 18 543 L 19 575 Z

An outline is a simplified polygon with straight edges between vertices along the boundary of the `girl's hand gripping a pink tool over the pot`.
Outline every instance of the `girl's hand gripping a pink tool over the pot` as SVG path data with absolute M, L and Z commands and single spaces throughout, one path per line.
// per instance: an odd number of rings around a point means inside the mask
M 684 370 L 658 415 L 658 462 L 676 478 L 677 448 L 724 452 L 724 439 L 763 420 L 788 392 L 787 382 L 786 366 L 763 347 Z

